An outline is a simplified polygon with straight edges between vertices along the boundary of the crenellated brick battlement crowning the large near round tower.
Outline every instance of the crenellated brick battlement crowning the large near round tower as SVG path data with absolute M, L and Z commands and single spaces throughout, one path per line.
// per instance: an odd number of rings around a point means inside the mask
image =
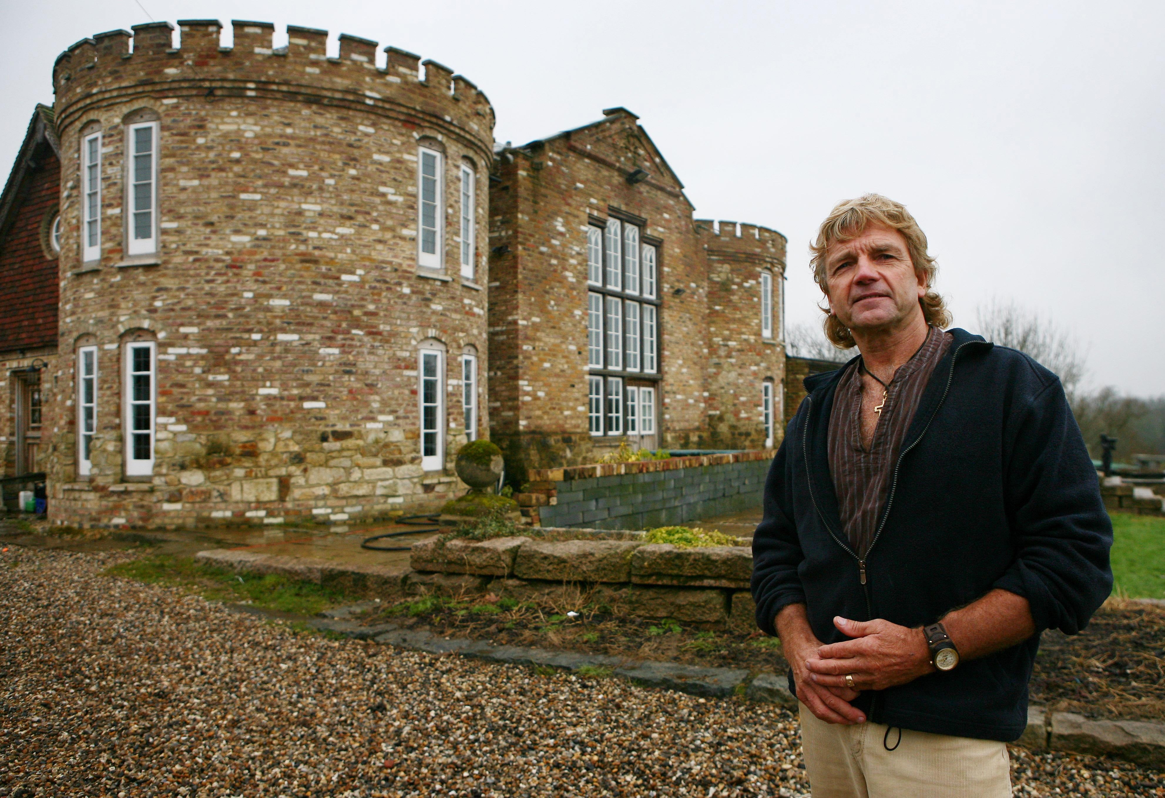
M 234 47 L 230 48 L 219 45 L 218 20 L 179 20 L 177 48 L 169 22 L 83 38 L 52 68 L 58 123 L 76 121 L 90 103 L 134 94 L 266 97 L 370 106 L 412 116 L 418 123 L 453 125 L 487 151 L 493 144 L 489 99 L 436 61 L 386 47 L 387 64 L 381 68 L 377 43 L 368 38 L 341 34 L 339 57 L 329 57 L 326 30 L 288 26 L 288 45 L 276 48 L 273 23 L 234 20 L 231 24 Z

